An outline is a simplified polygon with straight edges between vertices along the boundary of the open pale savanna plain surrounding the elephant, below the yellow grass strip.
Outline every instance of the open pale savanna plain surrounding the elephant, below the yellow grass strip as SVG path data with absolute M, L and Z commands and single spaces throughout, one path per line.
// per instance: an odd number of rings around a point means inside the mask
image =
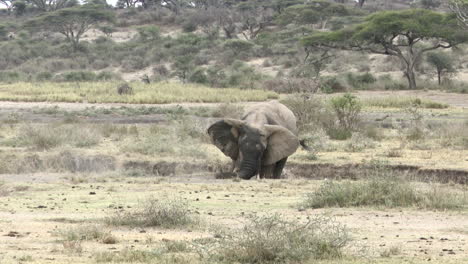
M 246 96 L 2 102 L 1 263 L 468 260 L 467 106 L 453 101 L 466 95 Z M 280 100 L 298 117 L 310 149 L 290 157 L 283 179 L 220 173 L 230 161 L 206 128 L 239 118 L 249 96 Z M 340 102 L 358 110 L 349 131 Z

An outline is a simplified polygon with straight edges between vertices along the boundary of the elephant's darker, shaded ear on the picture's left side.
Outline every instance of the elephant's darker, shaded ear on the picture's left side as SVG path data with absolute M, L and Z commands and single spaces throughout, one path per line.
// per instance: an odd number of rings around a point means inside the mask
M 208 128 L 211 142 L 221 150 L 224 155 L 237 160 L 239 155 L 239 129 L 244 124 L 237 119 L 224 119 L 212 124 Z

